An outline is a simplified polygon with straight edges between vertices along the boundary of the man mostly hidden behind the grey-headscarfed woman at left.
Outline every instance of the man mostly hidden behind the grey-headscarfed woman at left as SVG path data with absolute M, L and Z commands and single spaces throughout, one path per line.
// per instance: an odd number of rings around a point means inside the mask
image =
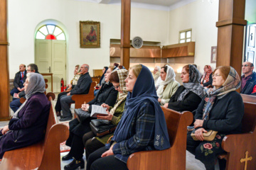
M 30 72 L 35 72 L 35 73 L 39 73 L 38 72 L 38 67 L 36 64 L 28 64 L 28 69 L 27 69 L 27 73 L 30 73 Z M 19 94 L 18 94 L 18 100 L 14 100 L 14 101 L 11 101 L 10 103 L 10 108 L 12 111 L 14 111 L 14 113 L 18 110 L 18 108 L 21 106 L 21 102 L 19 100 L 19 98 L 26 98 L 25 96 L 25 91 L 21 91 Z

